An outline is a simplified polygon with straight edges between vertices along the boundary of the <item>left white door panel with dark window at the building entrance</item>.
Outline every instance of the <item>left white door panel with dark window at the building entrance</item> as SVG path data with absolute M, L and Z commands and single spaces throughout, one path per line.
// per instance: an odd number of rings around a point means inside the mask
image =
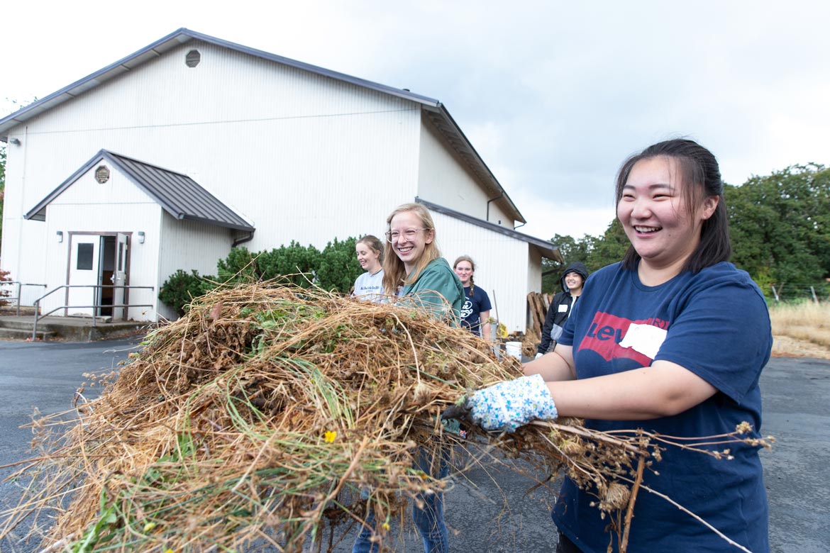
M 100 236 L 71 235 L 72 244 L 69 255 L 69 282 L 71 288 L 66 291 L 66 314 L 94 314 L 92 305 L 98 298 L 98 291 L 90 284 L 100 284 Z M 76 286 L 83 286 L 78 288 Z

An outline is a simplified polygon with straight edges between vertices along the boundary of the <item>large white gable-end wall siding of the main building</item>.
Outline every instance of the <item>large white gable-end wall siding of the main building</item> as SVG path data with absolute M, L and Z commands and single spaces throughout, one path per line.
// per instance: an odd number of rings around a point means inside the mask
M 14 130 L 26 140 L 10 157 L 3 230 L 20 245 L 4 246 L 3 264 L 34 282 L 48 236 L 17 212 L 101 148 L 193 177 L 253 220 L 251 250 L 379 234 L 417 195 L 416 104 L 195 42 Z

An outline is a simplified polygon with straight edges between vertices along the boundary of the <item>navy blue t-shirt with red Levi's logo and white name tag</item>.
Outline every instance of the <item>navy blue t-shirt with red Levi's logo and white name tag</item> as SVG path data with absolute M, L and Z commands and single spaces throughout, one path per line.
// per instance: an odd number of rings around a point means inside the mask
M 761 369 L 769 360 L 769 312 L 749 274 L 720 263 L 698 274 L 684 272 L 659 286 L 646 286 L 636 271 L 613 264 L 584 285 L 559 343 L 574 347 L 577 378 L 590 378 L 666 360 L 686 367 L 712 386 L 715 395 L 679 415 L 653 420 L 585 420 L 592 429 L 642 428 L 676 437 L 735 431 L 742 421 L 758 437 Z M 749 436 L 747 436 L 749 437 Z M 767 497 L 758 449 L 730 448 L 734 459 L 715 459 L 667 447 L 643 484 L 666 494 L 754 553 L 769 551 Z M 655 471 L 657 473 L 655 473 Z M 568 478 L 553 518 L 559 530 L 588 553 L 618 551 L 608 517 L 590 503 L 596 496 Z M 628 551 L 727 551 L 714 531 L 662 497 L 641 489 L 628 538 Z

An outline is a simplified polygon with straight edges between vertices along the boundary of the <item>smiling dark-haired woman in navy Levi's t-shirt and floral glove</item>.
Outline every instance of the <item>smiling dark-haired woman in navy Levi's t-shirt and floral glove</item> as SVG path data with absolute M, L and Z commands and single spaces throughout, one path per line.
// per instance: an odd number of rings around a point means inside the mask
M 623 261 L 588 277 L 554 352 L 527 363 L 527 376 L 469 398 L 472 418 L 488 429 L 514 429 L 534 419 L 579 417 L 600 431 L 645 429 L 678 440 L 730 434 L 749 423 L 742 437 L 759 438 L 758 381 L 772 332 L 760 289 L 728 262 L 715 157 L 678 139 L 629 158 L 618 176 L 617 216 L 631 242 Z M 759 446 L 729 447 L 727 460 L 666 446 L 643 484 L 745 551 L 766 553 Z M 609 544 L 618 551 L 596 500 L 596 490 L 565 478 L 553 510 L 557 551 L 604 553 Z M 734 549 L 664 498 L 637 495 L 627 551 Z

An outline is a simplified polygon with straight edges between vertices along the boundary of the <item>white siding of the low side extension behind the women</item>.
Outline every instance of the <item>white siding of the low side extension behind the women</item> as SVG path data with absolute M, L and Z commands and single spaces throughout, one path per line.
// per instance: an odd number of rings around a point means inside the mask
M 527 328 L 529 264 L 527 242 L 432 212 L 438 246 L 447 261 L 469 255 L 476 262 L 475 283 L 498 304 L 498 318 L 510 332 Z M 495 292 L 495 293 L 494 293 Z M 496 317 L 496 303 L 491 313 Z

